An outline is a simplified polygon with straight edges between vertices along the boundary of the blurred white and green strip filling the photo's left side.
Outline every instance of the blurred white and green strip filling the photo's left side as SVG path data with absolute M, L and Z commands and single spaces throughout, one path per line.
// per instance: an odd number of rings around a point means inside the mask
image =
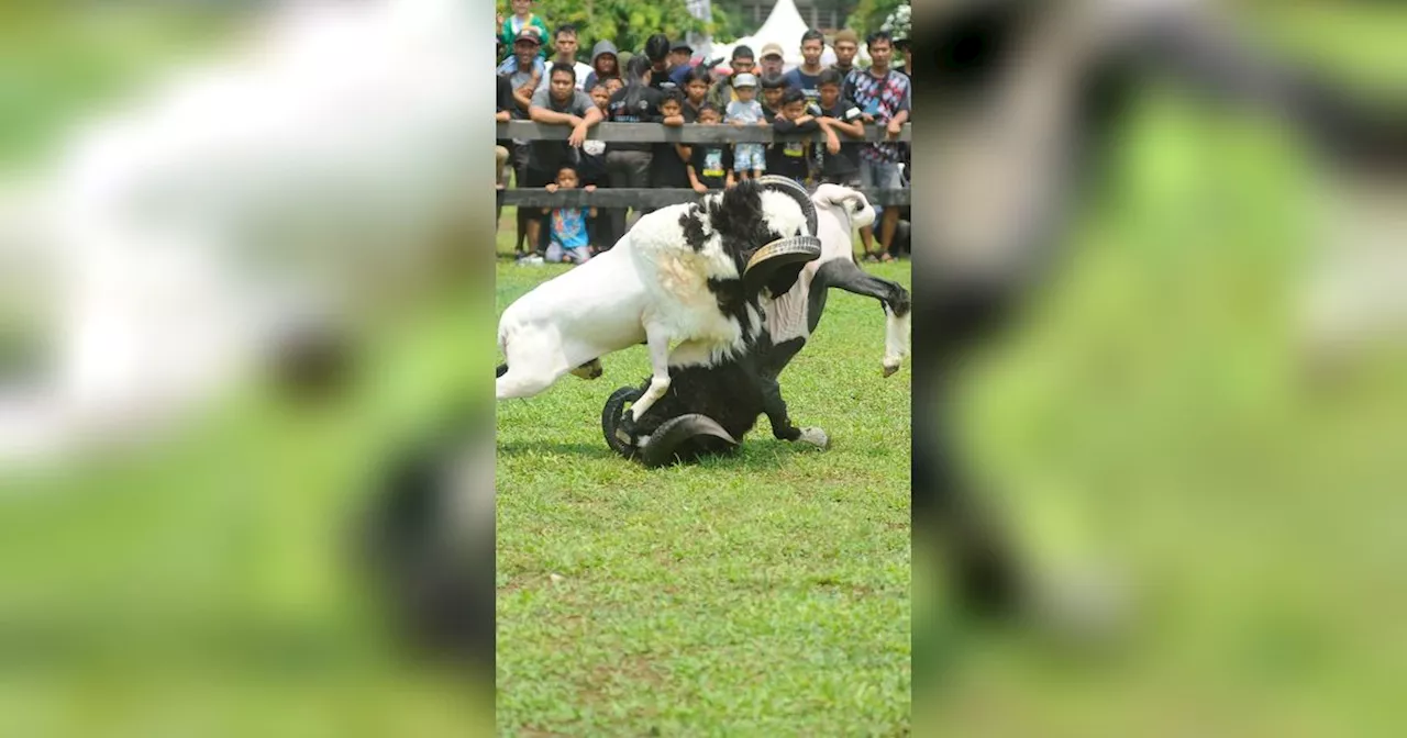
M 457 534 L 492 569 L 492 273 L 467 268 L 476 243 L 492 259 L 492 200 L 474 195 L 490 171 L 473 166 L 490 86 L 412 73 L 456 48 L 487 69 L 492 48 L 467 39 L 492 18 L 276 6 L 0 6 L 3 735 L 491 730 L 491 630 L 470 666 L 409 649 L 405 579 L 377 575 L 414 554 L 366 530 L 405 450 L 457 423 L 488 454 Z M 349 153 L 364 142 L 381 159 Z M 421 221 L 453 219 L 433 280 L 388 266 L 414 231 L 345 238 L 409 212 L 377 209 L 397 194 L 429 202 L 415 187 L 445 193 Z M 128 195 L 146 209 L 114 216 Z M 222 198 L 249 209 L 208 207 Z M 148 354 L 215 358 L 163 378 L 142 375 Z

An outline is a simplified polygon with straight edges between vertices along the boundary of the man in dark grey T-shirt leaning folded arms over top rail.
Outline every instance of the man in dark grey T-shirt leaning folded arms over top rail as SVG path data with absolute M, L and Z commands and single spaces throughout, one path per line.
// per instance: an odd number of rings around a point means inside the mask
M 547 187 L 557 181 L 557 170 L 563 164 L 575 166 L 575 149 L 587 141 L 587 132 L 592 125 L 601 122 L 601 110 L 591 100 L 591 96 L 577 89 L 577 72 L 571 65 L 556 63 L 549 72 L 546 90 L 533 94 L 528 114 L 533 122 L 545 125 L 570 125 L 571 135 L 561 141 L 533 141 L 528 157 L 528 179 L 519 187 Z M 539 263 L 546 252 L 546 239 L 542 232 L 542 212 L 539 208 L 528 221 L 528 254 L 533 263 Z M 519 211 L 522 212 L 522 211 Z M 533 259 L 536 256 L 536 259 Z

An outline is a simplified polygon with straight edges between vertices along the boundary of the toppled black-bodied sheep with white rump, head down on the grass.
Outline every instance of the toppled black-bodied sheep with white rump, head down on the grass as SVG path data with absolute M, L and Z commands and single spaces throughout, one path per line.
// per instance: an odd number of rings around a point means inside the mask
M 909 292 L 865 274 L 854 261 L 853 229 L 872 224 L 874 208 L 864 194 L 832 184 L 820 186 L 812 200 L 822 257 L 802 268 L 789 291 L 761 302 L 764 326 L 756 342 L 722 360 L 671 365 L 668 391 L 633 425 L 623 419 L 625 406 L 643 396 L 647 384 L 612 394 L 601 423 L 613 450 L 651 467 L 726 453 L 737 448 L 760 415 L 779 440 L 827 446 L 822 429 L 792 425 L 778 377 L 820 322 L 832 287 L 879 301 L 886 316 L 884 375 L 898 371 L 909 353 Z

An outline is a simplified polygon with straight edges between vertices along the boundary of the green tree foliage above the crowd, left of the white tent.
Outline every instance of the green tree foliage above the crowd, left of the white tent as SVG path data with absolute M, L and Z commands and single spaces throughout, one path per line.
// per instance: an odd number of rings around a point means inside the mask
M 508 0 L 495 4 L 502 18 L 512 14 Z M 711 31 L 708 24 L 689 15 L 684 0 L 537 0 L 533 13 L 553 31 L 568 22 L 575 25 L 581 60 L 590 60 L 591 46 L 601 39 L 620 51 L 639 52 L 657 32 L 673 41 L 689 31 Z

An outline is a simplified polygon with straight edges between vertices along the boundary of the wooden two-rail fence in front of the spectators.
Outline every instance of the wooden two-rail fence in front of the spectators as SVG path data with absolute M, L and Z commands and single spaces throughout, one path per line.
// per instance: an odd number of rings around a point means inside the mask
M 566 125 L 536 124 L 530 121 L 511 121 L 498 125 L 499 139 L 518 141 L 566 141 L 571 135 L 571 128 Z M 878 142 L 899 141 L 909 142 L 912 125 L 905 124 L 896 139 L 888 138 L 888 132 L 879 125 L 867 125 L 864 139 L 841 136 L 850 142 Z M 588 139 L 623 143 L 772 143 L 775 141 L 806 141 L 825 145 L 826 136 L 815 134 L 775 134 L 770 127 L 749 125 L 663 125 L 663 124 L 609 124 L 602 122 L 591 128 Z M 909 204 L 909 190 L 861 190 L 875 205 L 905 207 Z M 519 205 L 529 208 L 661 208 L 678 202 L 692 202 L 699 194 L 694 190 L 664 190 L 664 188 L 599 188 L 594 193 L 585 190 L 549 193 L 543 188 L 514 188 L 499 190 L 498 202 L 501 205 Z

